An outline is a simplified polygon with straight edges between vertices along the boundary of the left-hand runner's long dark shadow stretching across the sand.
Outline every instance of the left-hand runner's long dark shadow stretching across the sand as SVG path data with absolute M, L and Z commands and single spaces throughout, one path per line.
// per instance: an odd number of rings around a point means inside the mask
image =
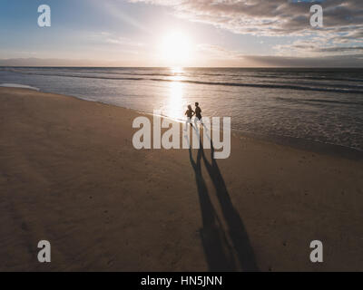
M 191 154 L 191 148 L 189 149 L 191 166 L 195 172 L 201 205 L 202 228 L 200 234 L 204 254 L 207 258 L 210 271 L 234 271 L 236 270 L 236 266 L 233 261 L 233 256 L 231 256 L 231 247 L 222 230 L 221 222 L 213 208 L 207 186 L 202 177 L 201 155 L 202 148 L 198 151 L 197 159 L 194 161 Z

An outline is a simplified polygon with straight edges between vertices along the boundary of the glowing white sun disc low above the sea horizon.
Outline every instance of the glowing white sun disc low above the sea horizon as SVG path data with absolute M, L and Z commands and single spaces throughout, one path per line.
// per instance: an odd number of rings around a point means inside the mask
M 191 41 L 186 34 L 166 34 L 161 45 L 162 61 L 168 66 L 185 66 L 191 61 Z

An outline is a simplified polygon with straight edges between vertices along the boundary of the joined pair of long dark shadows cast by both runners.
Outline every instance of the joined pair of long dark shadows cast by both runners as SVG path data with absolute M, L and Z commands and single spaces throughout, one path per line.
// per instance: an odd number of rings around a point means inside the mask
M 209 269 L 212 272 L 238 270 L 257 272 L 259 268 L 250 246 L 250 239 L 238 211 L 233 207 L 221 170 L 217 161 L 214 160 L 213 154 L 212 141 L 211 162 L 207 160 L 202 144 L 200 144 L 195 161 L 192 158 L 191 148 L 189 149 L 201 205 L 201 242 Z M 226 229 L 223 228 L 221 219 L 211 203 L 211 196 L 201 172 L 201 160 L 203 160 L 215 188 Z

